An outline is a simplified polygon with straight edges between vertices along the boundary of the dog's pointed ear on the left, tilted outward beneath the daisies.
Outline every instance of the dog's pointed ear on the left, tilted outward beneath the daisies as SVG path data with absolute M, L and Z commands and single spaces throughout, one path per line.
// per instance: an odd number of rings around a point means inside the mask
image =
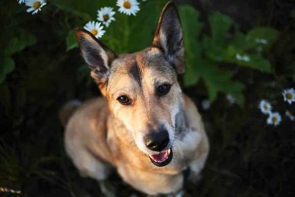
M 79 28 L 75 33 L 82 55 L 91 69 L 91 76 L 105 96 L 110 66 L 117 58 L 117 54 L 100 42 L 92 33 Z

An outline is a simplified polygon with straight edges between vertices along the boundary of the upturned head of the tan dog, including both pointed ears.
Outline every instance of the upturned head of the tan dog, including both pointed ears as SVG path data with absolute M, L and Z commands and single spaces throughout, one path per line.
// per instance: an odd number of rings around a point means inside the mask
M 130 130 L 138 148 L 156 166 L 173 157 L 176 116 L 184 72 L 182 28 L 175 4 L 168 2 L 159 19 L 151 47 L 118 55 L 86 30 L 77 40 L 112 113 Z

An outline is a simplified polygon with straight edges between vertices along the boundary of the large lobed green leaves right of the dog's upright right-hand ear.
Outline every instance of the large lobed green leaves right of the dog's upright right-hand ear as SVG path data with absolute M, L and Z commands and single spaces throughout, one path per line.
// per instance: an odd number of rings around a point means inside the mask
M 269 73 L 269 61 L 253 49 L 260 46 L 261 50 L 268 50 L 279 36 L 278 31 L 256 28 L 244 35 L 231 18 L 213 12 L 209 16 L 210 36 L 200 38 L 203 27 L 198 21 L 200 13 L 193 7 L 182 5 L 179 7 L 179 15 L 186 49 L 187 72 L 184 74 L 184 85 L 195 85 L 202 78 L 207 85 L 209 99 L 214 100 L 218 92 L 224 92 L 232 95 L 239 105 L 243 105 L 244 85 L 232 80 L 234 71 L 223 69 L 220 65 L 232 63 Z M 233 34 L 230 33 L 231 28 L 235 29 Z M 255 39 L 264 39 L 267 44 L 256 43 Z M 204 53 L 206 56 L 203 56 Z

